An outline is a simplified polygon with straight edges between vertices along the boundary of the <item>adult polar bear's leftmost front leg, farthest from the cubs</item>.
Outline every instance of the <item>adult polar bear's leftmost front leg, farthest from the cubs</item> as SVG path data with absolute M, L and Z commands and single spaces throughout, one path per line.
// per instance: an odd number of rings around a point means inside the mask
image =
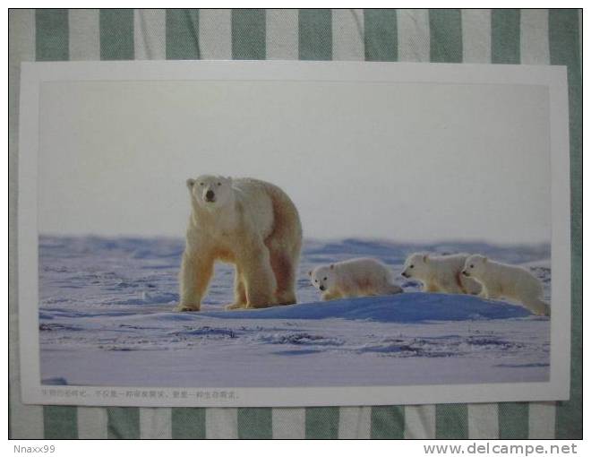
M 176 311 L 199 311 L 201 298 L 207 290 L 213 274 L 213 260 L 210 255 L 185 250 L 180 272 L 181 301 Z

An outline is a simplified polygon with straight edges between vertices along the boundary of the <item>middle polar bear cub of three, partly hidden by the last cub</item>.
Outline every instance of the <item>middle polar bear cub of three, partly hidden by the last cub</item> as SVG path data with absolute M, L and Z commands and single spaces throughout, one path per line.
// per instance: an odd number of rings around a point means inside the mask
M 423 282 L 425 292 L 476 295 L 481 290 L 480 284 L 461 274 L 468 256 L 411 254 L 404 264 L 402 276 Z

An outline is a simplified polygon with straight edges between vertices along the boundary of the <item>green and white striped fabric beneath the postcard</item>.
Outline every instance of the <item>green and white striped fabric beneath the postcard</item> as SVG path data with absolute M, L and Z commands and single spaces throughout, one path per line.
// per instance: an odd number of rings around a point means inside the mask
M 9 19 L 13 438 L 582 438 L 582 80 L 578 10 L 12 10 Z M 302 59 L 567 65 L 571 400 L 355 408 L 76 408 L 20 401 L 16 174 L 22 61 Z

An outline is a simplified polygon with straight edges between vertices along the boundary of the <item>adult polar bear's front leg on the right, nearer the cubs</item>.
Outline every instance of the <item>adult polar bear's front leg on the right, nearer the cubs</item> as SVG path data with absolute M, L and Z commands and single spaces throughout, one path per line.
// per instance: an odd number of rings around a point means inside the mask
M 269 250 L 261 242 L 244 254 L 238 259 L 238 263 L 244 273 L 245 307 L 262 308 L 274 305 L 277 280 L 270 265 Z

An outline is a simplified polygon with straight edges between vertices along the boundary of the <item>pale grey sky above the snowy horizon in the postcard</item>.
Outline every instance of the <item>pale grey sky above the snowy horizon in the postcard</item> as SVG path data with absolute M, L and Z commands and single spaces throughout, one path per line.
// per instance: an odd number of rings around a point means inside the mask
M 549 242 L 547 88 L 46 82 L 39 232 L 184 237 L 187 177 L 257 177 L 304 237 Z

